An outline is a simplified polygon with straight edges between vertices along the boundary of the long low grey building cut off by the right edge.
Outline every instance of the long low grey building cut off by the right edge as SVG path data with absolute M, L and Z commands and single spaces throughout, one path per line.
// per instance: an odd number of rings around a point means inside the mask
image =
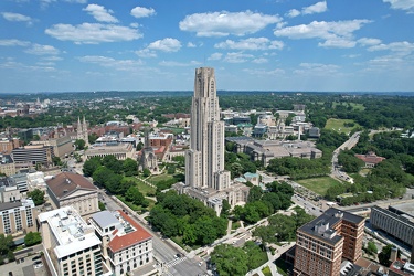
M 371 225 L 408 246 L 414 242 L 414 209 L 412 203 L 371 208 Z

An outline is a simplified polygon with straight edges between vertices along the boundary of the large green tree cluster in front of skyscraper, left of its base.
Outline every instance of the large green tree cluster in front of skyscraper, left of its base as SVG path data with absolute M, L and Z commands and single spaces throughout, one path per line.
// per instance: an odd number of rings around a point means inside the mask
M 176 191 L 157 194 L 148 221 L 168 237 L 181 236 L 188 245 L 206 245 L 223 236 L 227 221 L 201 201 Z

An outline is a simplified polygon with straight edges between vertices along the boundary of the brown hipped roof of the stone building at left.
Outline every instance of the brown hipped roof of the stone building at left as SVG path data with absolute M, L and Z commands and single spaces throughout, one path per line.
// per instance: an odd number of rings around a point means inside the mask
M 68 171 L 62 172 L 47 180 L 46 184 L 57 199 L 78 189 L 97 190 L 97 188 L 83 176 Z

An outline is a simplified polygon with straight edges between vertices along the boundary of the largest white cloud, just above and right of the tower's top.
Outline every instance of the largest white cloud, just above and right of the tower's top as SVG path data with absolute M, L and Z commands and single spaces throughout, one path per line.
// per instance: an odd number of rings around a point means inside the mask
M 206 12 L 187 15 L 180 23 L 181 31 L 195 32 L 198 36 L 226 36 L 255 33 L 268 24 L 280 22 L 278 15 L 266 15 L 252 11 Z

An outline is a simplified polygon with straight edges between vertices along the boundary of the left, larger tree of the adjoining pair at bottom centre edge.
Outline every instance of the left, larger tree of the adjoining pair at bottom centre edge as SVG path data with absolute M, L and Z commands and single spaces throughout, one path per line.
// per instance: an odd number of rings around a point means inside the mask
M 229 244 L 215 246 L 211 253 L 211 263 L 220 276 L 242 276 L 248 272 L 247 254 Z

